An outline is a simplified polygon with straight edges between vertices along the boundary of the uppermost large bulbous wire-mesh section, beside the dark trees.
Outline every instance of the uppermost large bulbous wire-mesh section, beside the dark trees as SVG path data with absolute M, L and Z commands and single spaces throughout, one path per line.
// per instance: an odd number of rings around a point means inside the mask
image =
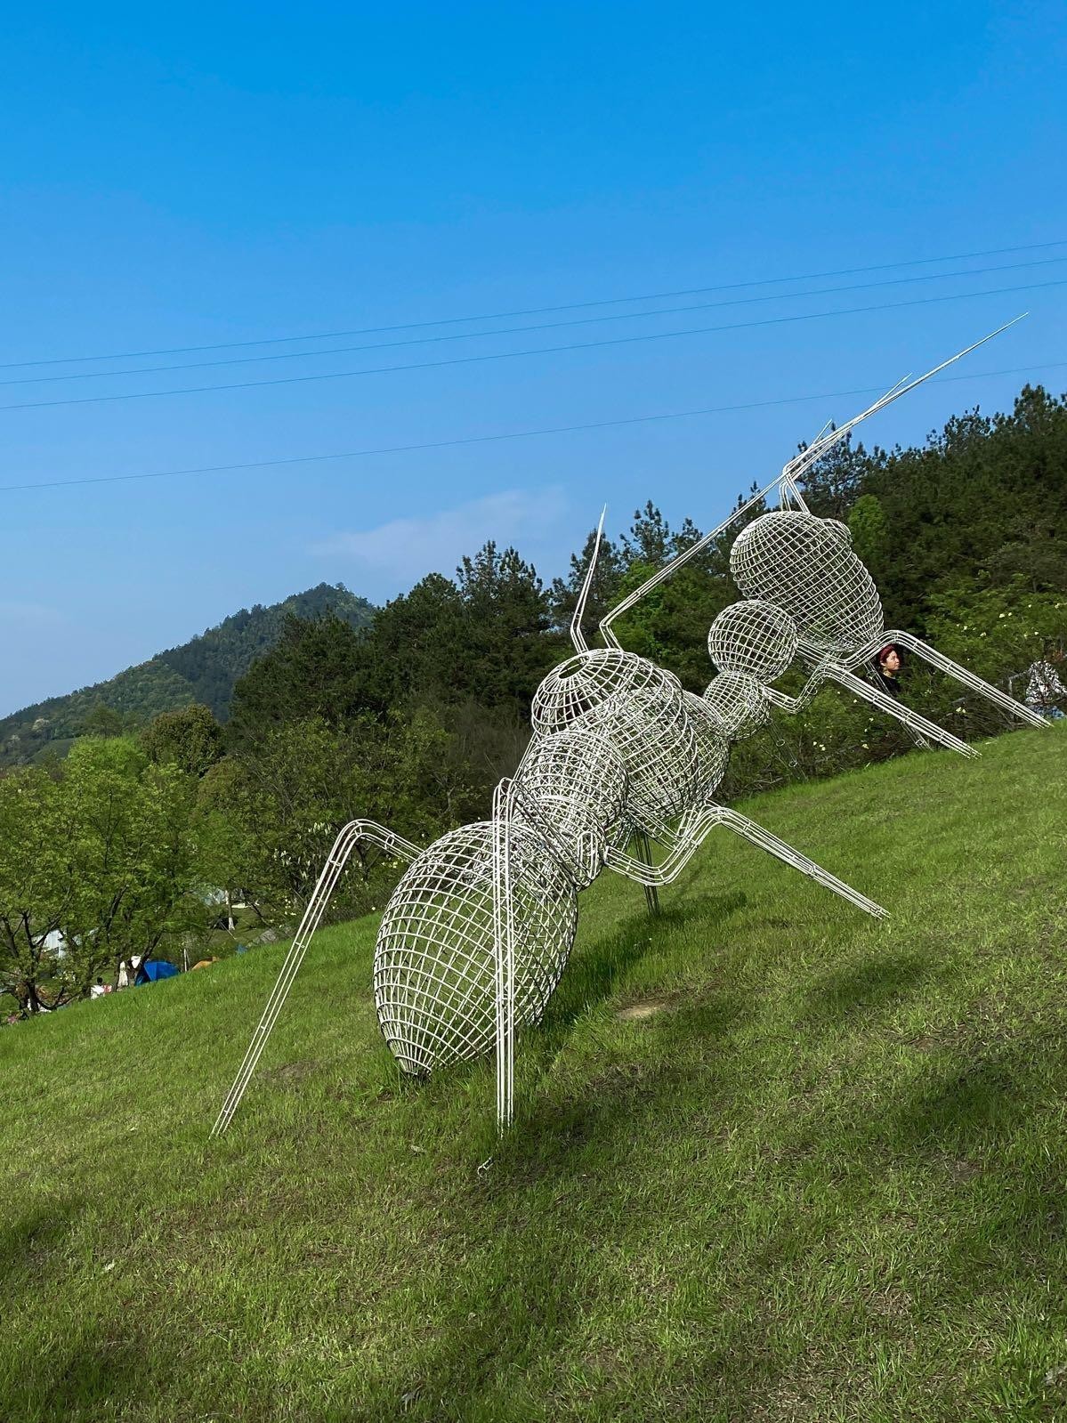
M 885 626 L 874 579 L 837 519 L 795 509 L 763 514 L 737 535 L 730 572 L 745 598 L 797 620 L 808 655 L 855 652 Z

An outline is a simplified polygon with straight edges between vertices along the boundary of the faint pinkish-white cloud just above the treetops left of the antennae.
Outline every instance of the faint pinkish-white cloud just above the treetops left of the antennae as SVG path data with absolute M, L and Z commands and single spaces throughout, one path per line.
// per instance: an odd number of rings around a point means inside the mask
M 502 548 L 514 544 L 524 558 L 538 555 L 543 541 L 561 531 L 568 512 L 561 485 L 505 490 L 421 518 L 334 534 L 316 544 L 313 552 L 334 558 L 340 554 L 367 571 L 413 582 L 431 572 L 451 576 L 462 555 L 475 554 L 487 539 Z

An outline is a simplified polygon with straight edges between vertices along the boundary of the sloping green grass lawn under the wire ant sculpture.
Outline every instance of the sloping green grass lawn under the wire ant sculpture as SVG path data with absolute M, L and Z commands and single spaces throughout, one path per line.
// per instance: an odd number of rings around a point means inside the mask
M 0 1032 L 0 1417 L 1067 1417 L 1067 730 L 983 753 L 751 807 L 888 924 L 726 831 L 602 877 L 502 1146 L 373 919 L 218 1141 L 282 946 Z

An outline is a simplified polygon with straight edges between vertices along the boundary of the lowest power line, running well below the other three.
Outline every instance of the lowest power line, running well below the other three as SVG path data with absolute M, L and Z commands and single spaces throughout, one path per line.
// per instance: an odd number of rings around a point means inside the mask
M 940 376 L 930 381 L 933 386 L 949 384 L 960 380 L 987 380 L 994 376 L 1026 376 L 1039 370 L 1061 370 L 1067 361 L 1044 361 L 1039 366 L 1012 366 L 1007 370 L 979 370 L 969 376 Z M 548 425 L 541 430 L 509 430 L 495 435 L 462 435 L 455 440 L 430 440 L 423 444 L 378 445 L 371 450 L 341 450 L 334 454 L 303 454 L 289 455 L 282 460 L 249 460 L 243 464 L 203 464 L 186 470 L 154 470 L 139 474 L 101 474 L 80 480 L 46 480 L 37 484 L 0 484 L 0 494 L 13 494 L 26 490 L 67 490 L 87 484 L 127 484 L 139 480 L 175 480 L 196 474 L 238 474 L 248 470 L 277 470 L 294 464 L 326 464 L 336 460 L 366 460 L 373 455 L 386 454 L 415 454 L 428 450 L 451 450 L 461 445 L 499 444 L 506 440 L 534 440 L 542 435 L 578 434 L 589 430 L 615 430 L 623 425 L 646 425 L 666 420 L 691 420 L 699 416 L 723 416 L 743 410 L 767 410 L 773 406 L 798 406 L 815 400 L 846 400 L 851 396 L 872 396 L 885 390 L 885 386 L 862 386 L 854 390 L 831 390 L 817 396 L 782 396 L 775 400 L 753 400 L 736 406 L 707 406 L 699 410 L 671 410 L 656 416 L 627 416 L 622 420 L 593 420 L 576 425 Z

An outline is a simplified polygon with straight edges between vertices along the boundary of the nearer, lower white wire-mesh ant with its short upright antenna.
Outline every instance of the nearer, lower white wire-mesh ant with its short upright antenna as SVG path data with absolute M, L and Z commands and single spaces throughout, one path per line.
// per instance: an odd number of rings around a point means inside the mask
M 590 650 L 582 635 L 596 554 L 570 625 L 576 655 L 532 703 L 534 737 L 515 776 L 494 793 L 492 818 L 427 850 L 373 821 L 334 841 L 245 1060 L 212 1128 L 240 1104 L 307 946 L 360 841 L 410 862 L 381 916 L 374 1002 L 401 1070 L 425 1076 L 497 1050 L 497 1116 L 512 1117 L 515 1030 L 536 1023 L 563 972 L 578 892 L 602 868 L 643 884 L 673 881 L 716 825 L 768 851 L 874 916 L 885 911 L 738 811 L 711 798 L 730 730 L 670 672 L 622 649 Z M 646 851 L 657 842 L 659 864 Z

